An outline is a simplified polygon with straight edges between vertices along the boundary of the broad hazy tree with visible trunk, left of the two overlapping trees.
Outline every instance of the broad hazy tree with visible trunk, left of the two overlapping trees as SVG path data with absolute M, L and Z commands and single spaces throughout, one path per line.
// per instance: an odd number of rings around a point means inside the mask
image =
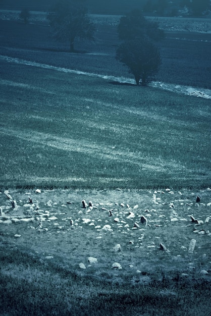
M 47 16 L 57 40 L 69 41 L 74 51 L 76 38 L 93 40 L 95 26 L 80 1 L 60 0 Z

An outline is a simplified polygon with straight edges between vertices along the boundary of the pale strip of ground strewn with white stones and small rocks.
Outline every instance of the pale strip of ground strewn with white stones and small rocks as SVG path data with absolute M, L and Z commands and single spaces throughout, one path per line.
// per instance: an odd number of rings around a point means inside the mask
M 1 244 L 80 275 L 210 280 L 211 190 L 2 191 Z M 9 273 L 9 267 L 7 271 Z

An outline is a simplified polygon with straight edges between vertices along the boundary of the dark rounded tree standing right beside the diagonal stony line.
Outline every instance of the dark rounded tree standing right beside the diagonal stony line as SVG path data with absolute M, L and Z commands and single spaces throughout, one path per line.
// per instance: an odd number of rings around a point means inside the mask
M 123 42 L 117 49 L 117 60 L 126 65 L 137 86 L 150 82 L 161 64 L 159 49 L 146 39 Z

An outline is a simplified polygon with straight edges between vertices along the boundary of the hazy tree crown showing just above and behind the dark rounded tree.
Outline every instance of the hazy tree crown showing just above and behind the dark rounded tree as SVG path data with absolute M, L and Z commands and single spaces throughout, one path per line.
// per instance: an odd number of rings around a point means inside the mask
M 117 30 L 119 38 L 122 40 L 145 37 L 157 41 L 165 37 L 164 31 L 159 28 L 159 25 L 156 22 L 146 20 L 138 9 L 121 17 Z

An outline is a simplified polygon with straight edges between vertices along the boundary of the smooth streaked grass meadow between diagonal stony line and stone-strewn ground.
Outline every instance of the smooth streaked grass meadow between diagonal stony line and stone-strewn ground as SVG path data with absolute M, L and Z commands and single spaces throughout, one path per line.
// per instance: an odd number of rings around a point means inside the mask
M 210 100 L 1 64 L 2 187 L 209 185 Z

